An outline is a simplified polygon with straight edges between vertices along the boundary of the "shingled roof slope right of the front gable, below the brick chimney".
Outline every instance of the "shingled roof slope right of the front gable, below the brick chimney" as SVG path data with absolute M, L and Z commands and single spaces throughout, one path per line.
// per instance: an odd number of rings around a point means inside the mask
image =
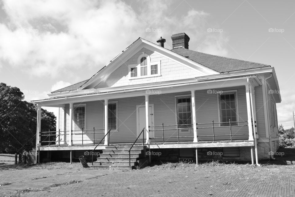
M 246 70 L 253 68 L 263 68 L 270 67 L 266 64 L 248 62 L 239 59 L 232 59 L 221 57 L 217 55 L 211 55 L 206 53 L 201 53 L 198 51 L 193 51 L 185 48 L 176 48 L 171 51 L 182 55 L 185 58 L 188 58 L 194 62 L 197 62 L 203 66 L 206 66 L 212 70 L 215 70 L 219 73 L 229 72 L 229 71 L 237 71 L 237 70 Z

